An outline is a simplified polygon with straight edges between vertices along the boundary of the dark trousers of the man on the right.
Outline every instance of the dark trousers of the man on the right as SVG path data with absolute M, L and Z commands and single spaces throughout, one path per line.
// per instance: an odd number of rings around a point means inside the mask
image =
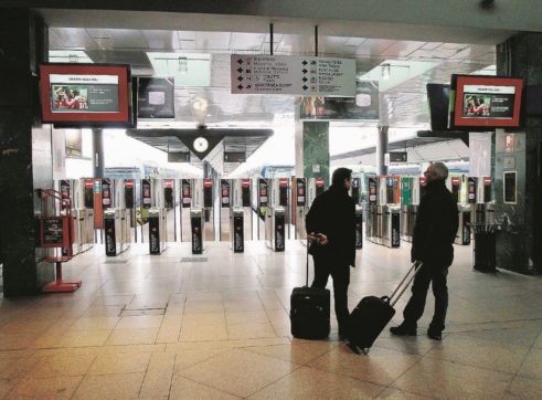
M 406 325 L 416 326 L 417 320 L 424 314 L 425 299 L 429 290 L 429 283 L 432 283 L 433 294 L 435 295 L 435 313 L 433 314 L 429 328 L 436 331 L 444 330 L 446 310 L 448 309 L 447 276 L 447 266 L 422 265 L 412 285 L 412 296 L 403 312 Z

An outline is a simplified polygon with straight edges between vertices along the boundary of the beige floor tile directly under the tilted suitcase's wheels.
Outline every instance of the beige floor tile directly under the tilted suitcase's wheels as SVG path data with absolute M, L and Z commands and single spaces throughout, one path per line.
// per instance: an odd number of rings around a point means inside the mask
M 378 385 L 391 385 L 419 357 L 400 351 L 373 347 L 368 356 L 353 354 L 341 344 L 334 351 L 329 351 L 309 362 L 309 367 L 338 375 L 361 379 Z

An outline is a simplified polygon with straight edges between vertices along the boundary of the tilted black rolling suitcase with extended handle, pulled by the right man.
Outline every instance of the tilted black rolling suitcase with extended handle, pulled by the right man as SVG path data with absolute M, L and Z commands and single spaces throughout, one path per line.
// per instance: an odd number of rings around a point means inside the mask
M 358 303 L 350 314 L 348 335 L 349 345 L 354 351 L 359 352 L 359 348 L 364 354 L 369 352 L 374 340 L 395 315 L 393 306 L 414 280 L 421 266 L 422 263 L 415 262 L 390 297 L 365 296 Z

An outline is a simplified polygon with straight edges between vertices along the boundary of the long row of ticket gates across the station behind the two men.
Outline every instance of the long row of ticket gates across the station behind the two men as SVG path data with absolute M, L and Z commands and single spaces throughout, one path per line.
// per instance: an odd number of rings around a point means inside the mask
M 458 200 L 461 244 L 470 243 L 470 223 L 491 220 L 490 180 L 478 182 L 477 178 L 448 182 Z M 284 251 L 288 239 L 307 238 L 305 217 L 325 190 L 321 178 L 88 178 L 56 185 L 71 199 L 74 254 L 103 243 L 110 256 L 137 242 L 148 242 L 150 254 L 162 253 L 168 242 L 191 242 L 192 253 L 201 254 L 206 242 L 229 241 L 232 251 L 243 252 L 245 241 L 252 240 Z M 398 248 L 401 240 L 408 241 L 424 187 L 424 178 L 370 177 L 363 181 L 354 177 L 350 194 L 357 204 L 355 246 L 363 245 L 363 221 L 366 239 L 374 243 Z M 479 201 L 488 196 L 489 201 Z

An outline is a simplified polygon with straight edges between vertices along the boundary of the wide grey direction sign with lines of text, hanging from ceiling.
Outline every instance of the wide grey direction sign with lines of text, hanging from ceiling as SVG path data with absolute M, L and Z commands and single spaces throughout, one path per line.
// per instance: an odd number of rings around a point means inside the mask
M 355 96 L 355 60 L 295 55 L 231 57 L 233 94 Z

